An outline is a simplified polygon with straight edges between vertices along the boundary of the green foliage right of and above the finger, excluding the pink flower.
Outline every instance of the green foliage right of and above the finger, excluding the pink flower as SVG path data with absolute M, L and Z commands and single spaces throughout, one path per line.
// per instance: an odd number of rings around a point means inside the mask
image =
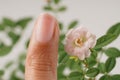
M 50 11 L 55 15 L 67 10 L 66 6 L 61 5 L 62 0 L 49 0 L 43 7 L 45 11 Z M 61 7 L 62 6 L 62 7 Z M 67 26 L 67 29 L 76 27 L 77 20 L 73 20 Z M 64 23 L 59 21 L 59 27 L 61 32 L 64 30 Z M 99 80 L 119 80 L 120 75 L 110 72 L 113 70 L 116 64 L 116 58 L 120 57 L 120 50 L 115 47 L 108 47 L 110 43 L 116 40 L 120 35 L 120 23 L 111 26 L 105 35 L 97 39 L 96 46 L 91 49 L 91 56 L 84 61 L 77 61 L 69 59 L 69 55 L 64 51 L 64 38 L 65 33 L 61 33 L 59 41 L 59 60 L 58 60 L 58 80 L 96 80 L 99 74 L 102 74 Z M 101 62 L 102 54 L 108 56 L 108 59 Z M 69 68 L 71 73 L 69 75 L 64 74 L 64 70 Z M 114 77 L 114 75 L 117 75 Z

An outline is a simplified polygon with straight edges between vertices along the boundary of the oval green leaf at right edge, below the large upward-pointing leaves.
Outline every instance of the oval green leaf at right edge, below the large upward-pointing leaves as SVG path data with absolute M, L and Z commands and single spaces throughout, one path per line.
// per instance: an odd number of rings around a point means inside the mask
M 120 51 L 114 47 L 111 47 L 111 48 L 108 48 L 107 50 L 105 50 L 105 54 L 108 57 L 114 57 L 114 58 L 120 57 Z

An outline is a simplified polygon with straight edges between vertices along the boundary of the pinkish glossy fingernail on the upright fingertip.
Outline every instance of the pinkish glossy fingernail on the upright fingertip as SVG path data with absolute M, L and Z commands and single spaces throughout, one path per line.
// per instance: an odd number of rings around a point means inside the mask
M 55 19 L 47 14 L 41 14 L 37 22 L 36 39 L 39 42 L 49 42 L 53 36 Z

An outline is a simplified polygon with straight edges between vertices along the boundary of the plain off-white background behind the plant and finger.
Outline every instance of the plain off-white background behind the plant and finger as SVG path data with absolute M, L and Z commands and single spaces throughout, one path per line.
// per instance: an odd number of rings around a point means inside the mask
M 18 52 L 22 52 L 24 41 L 29 38 L 35 19 L 42 13 L 42 6 L 45 0 L 0 0 L 0 21 L 3 16 L 8 16 L 14 20 L 26 16 L 32 16 L 34 21 L 26 28 L 23 37 L 11 53 L 5 57 L 0 57 L 0 68 L 9 60 L 17 59 Z M 72 20 L 79 20 L 79 25 L 87 27 L 97 37 L 103 35 L 107 29 L 120 22 L 120 0 L 63 0 L 62 5 L 68 6 L 65 13 L 59 14 L 59 20 L 65 25 Z M 110 46 L 120 49 L 120 37 Z M 104 60 L 104 57 L 103 57 Z M 120 73 L 120 59 L 117 59 L 116 68 L 111 73 Z

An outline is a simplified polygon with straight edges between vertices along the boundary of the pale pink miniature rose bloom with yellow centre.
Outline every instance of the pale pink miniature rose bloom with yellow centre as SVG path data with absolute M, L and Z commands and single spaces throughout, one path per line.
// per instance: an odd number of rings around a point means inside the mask
M 84 27 L 71 29 L 66 34 L 65 50 L 74 57 L 84 60 L 90 56 L 90 48 L 96 44 L 96 36 Z

